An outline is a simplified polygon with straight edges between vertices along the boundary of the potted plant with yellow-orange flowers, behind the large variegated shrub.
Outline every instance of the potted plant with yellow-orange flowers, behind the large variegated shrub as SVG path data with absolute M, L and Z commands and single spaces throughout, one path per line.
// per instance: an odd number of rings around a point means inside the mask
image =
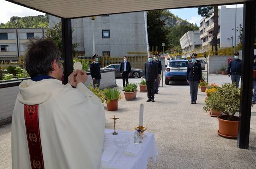
M 210 88 L 207 90 L 209 92 L 208 98 L 205 99 L 205 106 L 203 109 L 210 112 L 212 117 L 217 117 L 222 114 L 222 100 L 219 99 L 216 93 L 218 88 Z

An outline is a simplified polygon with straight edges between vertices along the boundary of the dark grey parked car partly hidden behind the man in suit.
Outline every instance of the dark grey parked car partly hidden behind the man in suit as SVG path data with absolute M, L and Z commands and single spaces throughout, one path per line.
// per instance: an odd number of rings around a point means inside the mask
M 103 69 L 110 69 L 110 68 L 115 68 L 116 69 L 115 70 L 115 76 L 116 77 L 122 77 L 122 75 L 120 74 L 120 64 L 108 65 L 108 66 L 104 67 Z M 142 76 L 144 76 L 144 70 L 132 67 L 130 77 L 140 78 Z

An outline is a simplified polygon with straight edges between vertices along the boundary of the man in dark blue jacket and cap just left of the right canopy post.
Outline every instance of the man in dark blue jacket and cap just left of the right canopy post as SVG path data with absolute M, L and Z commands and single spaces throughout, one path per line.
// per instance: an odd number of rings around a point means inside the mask
M 228 64 L 227 68 L 227 74 L 230 77 L 231 76 L 231 81 L 232 83 L 236 83 L 236 88 L 239 86 L 239 81 L 241 77 L 241 69 L 242 69 L 242 60 L 238 59 L 239 53 L 236 52 L 234 54 L 234 59 L 230 61 Z

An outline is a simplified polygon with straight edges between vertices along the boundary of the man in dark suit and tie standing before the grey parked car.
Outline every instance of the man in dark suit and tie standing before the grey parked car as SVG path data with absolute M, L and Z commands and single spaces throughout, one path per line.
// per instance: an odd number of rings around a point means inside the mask
M 131 73 L 131 64 L 127 61 L 127 56 L 124 56 L 124 61 L 120 64 L 120 73 L 123 79 L 123 87 L 125 87 L 126 83 L 129 83 L 128 79 Z

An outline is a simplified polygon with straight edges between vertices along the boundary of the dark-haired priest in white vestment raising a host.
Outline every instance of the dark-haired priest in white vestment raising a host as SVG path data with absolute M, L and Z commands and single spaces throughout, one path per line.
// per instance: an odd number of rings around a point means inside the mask
M 12 115 L 12 169 L 99 169 L 105 114 L 75 71 L 62 85 L 62 59 L 50 39 L 29 40 Z

